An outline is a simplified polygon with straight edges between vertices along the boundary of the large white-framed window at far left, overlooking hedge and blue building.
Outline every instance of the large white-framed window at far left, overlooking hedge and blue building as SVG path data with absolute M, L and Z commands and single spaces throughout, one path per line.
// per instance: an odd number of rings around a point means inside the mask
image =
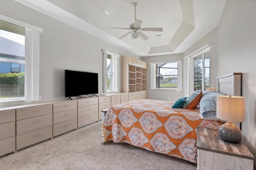
M 40 32 L 0 15 L 0 101 L 39 100 Z

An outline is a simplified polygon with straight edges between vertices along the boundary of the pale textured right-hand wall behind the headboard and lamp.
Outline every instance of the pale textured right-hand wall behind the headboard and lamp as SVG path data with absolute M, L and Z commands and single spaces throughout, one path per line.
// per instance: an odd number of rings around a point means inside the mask
M 218 76 L 242 73 L 244 143 L 256 169 L 256 1 L 228 0 L 218 26 Z

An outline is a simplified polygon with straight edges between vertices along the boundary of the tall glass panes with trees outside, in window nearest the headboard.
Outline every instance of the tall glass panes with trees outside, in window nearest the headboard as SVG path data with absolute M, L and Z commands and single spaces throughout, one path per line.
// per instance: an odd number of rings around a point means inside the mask
M 210 52 L 194 57 L 194 91 L 210 87 Z

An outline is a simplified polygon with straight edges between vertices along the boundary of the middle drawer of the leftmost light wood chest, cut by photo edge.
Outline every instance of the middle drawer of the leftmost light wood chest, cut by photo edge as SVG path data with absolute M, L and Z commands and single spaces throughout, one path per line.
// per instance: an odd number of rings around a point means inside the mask
M 0 140 L 15 136 L 15 122 L 0 124 Z

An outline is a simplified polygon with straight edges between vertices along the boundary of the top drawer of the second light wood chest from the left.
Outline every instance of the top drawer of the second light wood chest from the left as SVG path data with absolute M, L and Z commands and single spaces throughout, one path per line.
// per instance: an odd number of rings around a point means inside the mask
M 16 110 L 16 120 L 27 119 L 52 113 L 52 105 L 28 107 Z

